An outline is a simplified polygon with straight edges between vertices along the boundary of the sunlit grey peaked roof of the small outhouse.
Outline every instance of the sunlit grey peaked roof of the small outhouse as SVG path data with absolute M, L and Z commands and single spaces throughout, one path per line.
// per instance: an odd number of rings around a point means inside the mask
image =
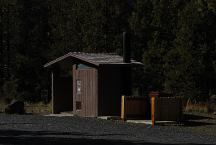
M 57 62 L 63 61 L 66 58 L 74 58 L 84 62 L 88 62 L 90 64 L 99 66 L 102 64 L 139 64 L 142 65 L 141 62 L 137 62 L 135 60 L 131 60 L 131 63 L 124 63 L 123 57 L 117 54 L 111 53 L 83 53 L 83 52 L 69 52 L 55 60 L 52 60 L 44 65 L 44 67 L 49 67 Z

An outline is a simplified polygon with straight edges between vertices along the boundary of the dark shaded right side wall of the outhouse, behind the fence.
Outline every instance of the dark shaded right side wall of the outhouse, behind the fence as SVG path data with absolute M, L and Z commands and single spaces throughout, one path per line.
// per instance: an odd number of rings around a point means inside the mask
M 130 94 L 130 66 L 106 65 L 99 68 L 99 116 L 120 116 L 121 96 Z

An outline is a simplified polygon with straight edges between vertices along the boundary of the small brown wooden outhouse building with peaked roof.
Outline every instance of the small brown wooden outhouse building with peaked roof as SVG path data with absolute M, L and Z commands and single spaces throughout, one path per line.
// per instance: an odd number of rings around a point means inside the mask
M 122 56 L 70 52 L 47 64 L 52 78 L 52 112 L 85 117 L 120 115 L 121 96 L 131 94 L 131 67 Z M 71 76 L 62 75 L 67 70 Z

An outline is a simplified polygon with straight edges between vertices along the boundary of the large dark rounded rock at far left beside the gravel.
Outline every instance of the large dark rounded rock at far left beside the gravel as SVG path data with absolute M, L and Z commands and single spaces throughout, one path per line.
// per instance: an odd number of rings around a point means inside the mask
M 5 113 L 8 114 L 24 114 L 24 103 L 19 100 L 12 100 L 9 105 L 5 108 Z

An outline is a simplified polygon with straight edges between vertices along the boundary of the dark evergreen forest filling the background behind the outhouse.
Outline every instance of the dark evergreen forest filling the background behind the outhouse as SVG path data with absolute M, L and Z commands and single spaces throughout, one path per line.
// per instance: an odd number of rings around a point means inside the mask
M 0 97 L 40 101 L 43 65 L 70 51 L 122 55 L 131 33 L 134 88 L 216 93 L 215 0 L 0 0 Z

